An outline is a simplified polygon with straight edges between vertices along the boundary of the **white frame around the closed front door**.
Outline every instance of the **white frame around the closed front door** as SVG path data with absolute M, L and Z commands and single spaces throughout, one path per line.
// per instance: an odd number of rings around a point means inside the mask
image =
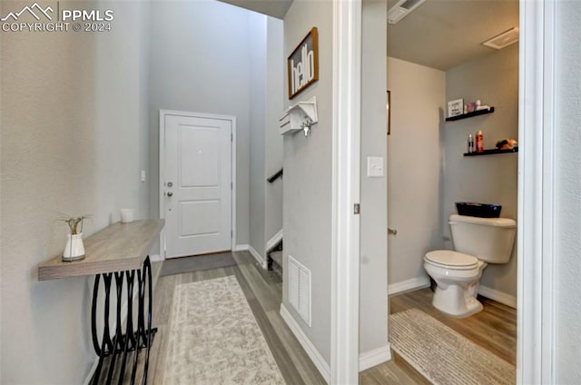
M 165 200 L 162 199 L 163 197 L 163 186 L 162 181 L 165 178 L 165 117 L 168 115 L 177 115 L 177 116 L 187 116 L 193 118 L 205 118 L 205 119 L 217 119 L 217 120 L 225 120 L 231 122 L 231 251 L 234 251 L 236 247 L 236 116 L 231 115 L 220 115 L 220 114 L 204 114 L 204 113 L 192 113 L 187 111 L 175 111 L 175 110 L 160 110 L 160 159 L 159 159 L 159 166 L 160 166 L 160 174 L 159 174 L 159 181 L 158 181 L 158 188 L 159 188 L 159 202 L 160 202 L 160 218 L 165 218 Z M 165 230 L 162 231 L 160 235 L 160 255 L 162 259 L 165 260 Z

